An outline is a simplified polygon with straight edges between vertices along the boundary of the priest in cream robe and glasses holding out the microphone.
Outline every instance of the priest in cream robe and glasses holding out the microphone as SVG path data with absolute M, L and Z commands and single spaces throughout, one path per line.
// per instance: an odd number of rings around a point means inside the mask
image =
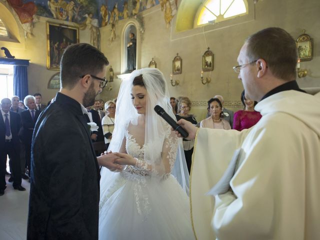
M 233 69 L 262 118 L 242 131 L 196 128 L 190 174 L 197 239 L 320 239 L 320 98 L 295 81 L 294 39 L 249 36 Z M 179 135 L 177 133 L 177 135 Z

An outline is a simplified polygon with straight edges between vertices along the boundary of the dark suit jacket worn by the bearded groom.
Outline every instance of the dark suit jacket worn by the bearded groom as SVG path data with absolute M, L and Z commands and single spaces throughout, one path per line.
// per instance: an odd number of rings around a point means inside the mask
M 58 92 L 32 137 L 27 239 L 98 239 L 99 178 L 80 104 Z

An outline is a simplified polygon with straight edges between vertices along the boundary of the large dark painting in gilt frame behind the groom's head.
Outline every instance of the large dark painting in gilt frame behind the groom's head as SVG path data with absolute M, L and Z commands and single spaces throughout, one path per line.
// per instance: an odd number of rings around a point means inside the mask
M 68 45 L 79 42 L 79 29 L 75 26 L 47 22 L 46 34 L 46 67 L 49 70 L 59 70 L 64 49 Z

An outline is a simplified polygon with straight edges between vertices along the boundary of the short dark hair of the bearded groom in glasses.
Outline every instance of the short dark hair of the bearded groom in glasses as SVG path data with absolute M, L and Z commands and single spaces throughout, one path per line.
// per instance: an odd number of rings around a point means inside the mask
M 69 45 L 64 50 L 60 61 L 61 87 L 72 89 L 80 79 L 79 76 L 96 75 L 108 64 L 104 54 L 88 43 Z

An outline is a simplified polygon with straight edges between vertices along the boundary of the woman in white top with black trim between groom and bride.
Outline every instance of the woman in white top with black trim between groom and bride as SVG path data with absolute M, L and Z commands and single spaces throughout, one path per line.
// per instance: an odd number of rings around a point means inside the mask
M 112 138 L 112 131 L 114 128 L 115 103 L 113 101 L 107 101 L 104 104 L 104 108 L 106 114 L 105 116 L 103 116 L 101 123 L 104 135 L 105 148 L 108 149 L 109 143 Z

